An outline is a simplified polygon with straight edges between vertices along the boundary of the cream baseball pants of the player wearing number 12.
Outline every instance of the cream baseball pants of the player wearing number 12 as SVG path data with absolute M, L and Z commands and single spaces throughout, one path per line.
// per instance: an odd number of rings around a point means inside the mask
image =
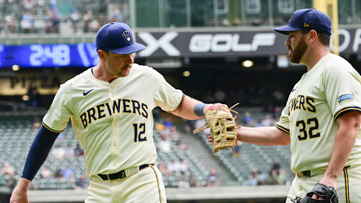
M 162 175 L 153 165 L 122 179 L 92 178 L 85 199 L 90 202 L 166 203 Z

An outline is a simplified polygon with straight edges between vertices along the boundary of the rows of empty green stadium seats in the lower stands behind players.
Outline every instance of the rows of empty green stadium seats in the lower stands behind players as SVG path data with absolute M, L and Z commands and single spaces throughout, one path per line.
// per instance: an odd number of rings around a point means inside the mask
M 239 110 L 240 115 L 244 111 Z M 261 119 L 266 115 L 265 113 L 254 111 L 251 112 L 255 122 L 260 123 Z M 155 115 L 156 122 L 162 122 L 162 118 L 159 115 Z M 25 160 L 29 151 L 29 148 L 38 132 L 38 128 L 33 128 L 34 117 L 33 116 L 3 116 L 0 118 L 0 169 L 3 168 L 3 163 L 8 161 L 15 169 L 15 178 L 18 179 L 23 170 Z M 197 136 L 182 130 L 182 126 L 185 126 L 184 121 L 176 124 L 178 126 L 177 132 L 180 134 L 180 138 L 183 139 L 186 136 Z M 182 129 L 181 129 L 182 128 Z M 179 130 L 180 129 L 180 130 Z M 160 133 L 154 128 L 153 139 L 155 146 L 158 146 L 159 141 L 162 140 Z M 206 153 L 212 154 L 213 148 L 207 143 L 207 135 L 199 135 L 199 143 L 196 145 L 204 145 L 209 151 Z M 207 184 L 207 175 L 210 173 L 210 168 L 206 168 L 199 158 L 203 156 L 197 154 L 199 152 L 192 151 L 190 149 L 177 150 L 178 142 L 170 140 L 172 152 L 161 153 L 157 149 L 158 157 L 157 162 L 170 163 L 171 160 L 184 159 L 188 163 L 188 168 L 185 172 L 185 176 L 189 178 L 192 174 L 193 177 L 205 186 Z M 63 149 L 67 146 L 71 146 L 74 150 L 78 146 L 78 141 L 74 136 L 73 129 L 69 123 L 66 131 L 55 142 L 55 145 L 60 145 Z M 83 156 L 72 156 L 67 158 L 55 158 L 52 154 L 55 147 L 53 147 L 47 160 L 35 176 L 33 181 L 33 188 L 39 189 L 56 189 L 56 188 L 76 188 L 76 182 L 82 175 L 86 173 L 86 167 L 84 164 Z M 240 157 L 233 155 L 232 150 L 221 150 L 218 152 L 218 156 L 213 157 L 217 164 L 223 164 L 226 173 L 229 173 L 231 179 L 238 181 L 237 184 L 246 184 L 247 177 L 254 171 L 262 171 L 268 173 L 274 161 L 279 161 L 281 168 L 285 171 L 285 181 L 289 182 L 293 179 L 294 174 L 289 170 L 290 165 L 290 152 L 289 146 L 259 146 L 248 143 L 243 143 L 240 149 Z M 42 178 L 40 171 L 48 166 L 52 171 L 53 176 L 50 178 Z M 70 178 L 55 178 L 55 173 L 60 169 L 64 169 L 65 166 L 72 168 L 74 175 Z M 172 172 L 170 174 L 163 174 L 163 181 L 166 187 L 177 187 L 178 178 L 180 172 Z M 11 177 L 9 175 L 0 176 L 0 186 L 6 184 Z M 224 176 L 220 175 L 220 178 Z M 227 179 L 227 178 L 226 178 Z M 229 179 L 229 178 L 228 178 Z M 87 179 L 89 181 L 89 179 Z M 221 181 L 222 185 L 234 184 L 227 182 L 227 180 Z

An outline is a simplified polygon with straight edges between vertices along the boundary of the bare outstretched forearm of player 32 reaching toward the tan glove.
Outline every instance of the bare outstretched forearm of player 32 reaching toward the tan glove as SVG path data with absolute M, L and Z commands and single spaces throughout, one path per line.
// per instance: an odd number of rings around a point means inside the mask
M 276 127 L 241 127 L 237 129 L 237 140 L 259 145 L 287 145 L 289 134 Z

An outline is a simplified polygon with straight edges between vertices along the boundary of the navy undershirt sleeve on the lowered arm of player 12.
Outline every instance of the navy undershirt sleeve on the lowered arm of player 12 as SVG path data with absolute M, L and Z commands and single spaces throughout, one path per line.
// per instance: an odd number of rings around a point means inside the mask
M 43 125 L 41 126 L 32 146 L 30 147 L 21 177 L 33 180 L 39 168 L 48 157 L 48 154 L 58 135 L 58 132 L 52 132 Z

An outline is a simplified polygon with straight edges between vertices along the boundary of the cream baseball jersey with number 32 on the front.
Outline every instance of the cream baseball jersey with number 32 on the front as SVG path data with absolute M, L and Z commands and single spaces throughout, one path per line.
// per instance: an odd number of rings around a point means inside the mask
M 325 169 L 338 130 L 336 119 L 361 111 L 361 77 L 343 58 L 327 54 L 293 87 L 277 128 L 290 134 L 291 170 Z M 345 166 L 361 164 L 361 132 Z

